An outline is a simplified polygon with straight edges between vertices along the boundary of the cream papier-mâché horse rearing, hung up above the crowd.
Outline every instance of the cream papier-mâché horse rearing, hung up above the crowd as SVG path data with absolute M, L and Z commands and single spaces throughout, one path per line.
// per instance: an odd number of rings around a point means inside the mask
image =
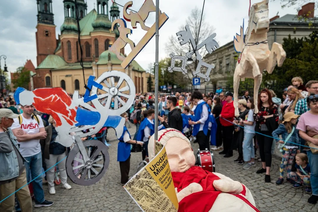
M 278 67 L 283 65 L 286 59 L 286 52 L 283 46 L 274 42 L 271 51 L 268 48 L 267 32 L 269 29 L 268 1 L 253 4 L 248 20 L 248 30 L 244 37 L 244 23 L 240 29 L 240 35 L 234 36 L 235 51 L 241 53 L 236 63 L 233 88 L 235 116 L 239 116 L 238 93 L 239 81 L 245 78 L 254 79 L 254 105 L 255 113 L 258 113 L 258 91 L 262 82 L 263 71 L 272 74 L 276 63 Z

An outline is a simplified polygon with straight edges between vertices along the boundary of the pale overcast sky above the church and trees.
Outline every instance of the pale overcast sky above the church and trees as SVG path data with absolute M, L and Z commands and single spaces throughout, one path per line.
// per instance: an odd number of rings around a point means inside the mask
M 85 0 L 86 1 L 86 0 Z M 118 4 L 124 5 L 128 0 L 116 0 Z M 186 18 L 194 7 L 202 9 L 204 0 L 160 0 L 160 10 L 165 12 L 169 19 L 159 31 L 159 60 L 169 57 L 170 52 L 165 52 L 165 44 L 170 35 L 174 35 L 178 29 L 186 24 Z M 257 3 L 260 0 L 252 0 Z M 131 9 L 138 11 L 143 0 L 134 0 Z M 155 2 L 155 0 L 154 0 Z M 87 0 L 87 11 L 94 8 L 96 0 Z M 54 24 L 56 25 L 56 36 L 60 34 L 60 26 L 64 22 L 63 0 L 53 0 Z M 109 0 L 109 7 L 112 4 Z M 96 6 L 95 6 L 96 7 Z M 204 14 L 217 33 L 216 40 L 222 46 L 233 40 L 236 32 L 239 32 L 240 25 L 245 19 L 245 25 L 248 20 L 248 0 L 206 0 Z M 122 18 L 122 7 L 120 16 Z M 269 3 L 269 18 L 272 18 L 279 12 L 280 16 L 285 14 L 296 14 L 295 7 L 281 9 L 280 0 Z M 149 27 L 155 21 L 155 12 L 150 13 L 146 20 Z M 0 55 L 7 56 L 7 66 L 10 72 L 15 72 L 17 67 L 23 66 L 26 59 L 31 59 L 36 67 L 36 41 L 35 32 L 37 25 L 37 4 L 36 0 L 1 0 L 0 7 Z M 130 22 L 127 27 L 131 28 Z M 139 42 L 145 34 L 137 24 L 138 29 L 133 30 L 129 36 L 135 44 Z M 209 35 L 205 35 L 208 37 Z M 130 47 L 125 47 L 125 52 L 130 52 Z M 155 37 L 139 53 L 135 60 L 144 68 L 148 69 L 148 64 L 155 61 Z M 1 60 L 3 67 L 4 61 Z

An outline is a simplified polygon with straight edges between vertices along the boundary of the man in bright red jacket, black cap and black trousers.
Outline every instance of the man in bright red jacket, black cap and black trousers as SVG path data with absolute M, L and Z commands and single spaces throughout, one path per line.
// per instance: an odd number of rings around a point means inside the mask
M 234 125 L 234 105 L 233 94 L 231 92 L 225 93 L 225 105 L 222 107 L 221 114 L 219 115 L 220 123 L 222 125 L 222 137 L 223 137 L 223 151 L 219 154 L 224 154 L 225 158 L 233 156 L 233 150 L 231 149 Z

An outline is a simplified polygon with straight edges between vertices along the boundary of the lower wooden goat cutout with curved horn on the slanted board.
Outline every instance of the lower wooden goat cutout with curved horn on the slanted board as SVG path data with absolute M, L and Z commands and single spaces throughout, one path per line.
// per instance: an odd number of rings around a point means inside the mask
M 119 24 L 119 27 L 118 25 Z M 119 32 L 119 38 L 116 39 L 114 44 L 110 46 L 109 51 L 116 54 L 117 58 L 121 61 L 125 60 L 125 57 L 120 55 L 120 50 L 126 46 L 128 43 L 130 45 L 131 50 L 135 48 L 135 43 L 128 38 L 128 34 L 132 33 L 132 30 L 126 28 L 126 22 L 122 18 L 118 18 L 113 21 L 111 30 L 114 31 L 114 27 L 117 27 Z

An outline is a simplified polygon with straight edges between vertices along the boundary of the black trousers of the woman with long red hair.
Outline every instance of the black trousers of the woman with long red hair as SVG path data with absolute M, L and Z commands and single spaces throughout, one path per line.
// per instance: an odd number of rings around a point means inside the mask
M 264 135 L 272 136 L 269 132 L 261 132 Z M 263 135 L 256 134 L 257 143 L 259 145 L 259 156 L 262 162 L 266 163 L 266 167 L 272 165 L 272 144 L 273 138 L 269 138 Z

